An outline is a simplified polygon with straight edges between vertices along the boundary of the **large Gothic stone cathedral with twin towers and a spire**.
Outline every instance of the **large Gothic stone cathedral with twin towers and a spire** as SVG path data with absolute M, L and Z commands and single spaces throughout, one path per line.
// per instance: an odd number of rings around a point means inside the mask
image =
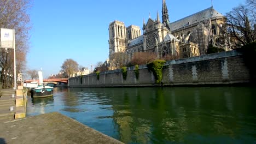
M 157 13 L 156 20 L 143 19 L 141 28 L 124 22 L 109 24 L 109 59 L 115 52 L 130 54 L 135 52 L 155 52 L 158 58 L 167 55 L 177 58 L 205 55 L 209 44 L 227 51 L 220 27 L 225 17 L 213 7 L 170 22 L 166 1 L 162 0 L 162 21 Z

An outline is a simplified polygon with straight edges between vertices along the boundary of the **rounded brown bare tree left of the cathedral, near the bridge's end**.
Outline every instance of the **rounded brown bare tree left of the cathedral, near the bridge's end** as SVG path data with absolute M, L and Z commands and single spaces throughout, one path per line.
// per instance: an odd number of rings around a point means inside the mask
M 78 63 L 73 59 L 66 59 L 66 61 L 61 66 L 62 70 L 65 71 L 66 77 L 69 77 L 76 71 L 78 71 Z

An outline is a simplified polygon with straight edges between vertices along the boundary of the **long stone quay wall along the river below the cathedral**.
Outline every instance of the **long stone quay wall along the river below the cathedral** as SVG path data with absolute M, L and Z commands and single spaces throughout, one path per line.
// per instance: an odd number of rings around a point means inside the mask
M 125 86 L 177 86 L 247 83 L 249 69 L 237 51 L 213 53 L 199 57 L 167 61 L 162 70 L 162 83 L 157 84 L 147 65 L 139 65 L 136 79 L 135 67 L 127 68 L 126 80 L 121 69 L 96 74 L 72 77 L 69 87 L 125 87 Z

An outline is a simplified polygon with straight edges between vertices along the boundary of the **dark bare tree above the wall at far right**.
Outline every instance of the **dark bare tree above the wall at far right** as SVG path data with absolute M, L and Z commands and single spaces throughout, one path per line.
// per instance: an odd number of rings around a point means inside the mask
M 248 3 L 250 0 L 247 1 Z M 255 4 L 254 1 L 251 1 Z M 231 49 L 241 47 L 256 40 L 255 7 L 239 5 L 226 14 L 226 24 L 222 32 L 226 33 L 226 41 Z

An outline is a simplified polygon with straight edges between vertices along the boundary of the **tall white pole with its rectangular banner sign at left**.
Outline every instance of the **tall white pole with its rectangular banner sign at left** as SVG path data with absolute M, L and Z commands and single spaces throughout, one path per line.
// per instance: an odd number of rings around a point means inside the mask
M 16 89 L 16 52 L 15 52 L 15 31 L 14 29 L 0 28 L 1 29 L 1 43 L 0 47 L 14 50 L 14 87 Z

